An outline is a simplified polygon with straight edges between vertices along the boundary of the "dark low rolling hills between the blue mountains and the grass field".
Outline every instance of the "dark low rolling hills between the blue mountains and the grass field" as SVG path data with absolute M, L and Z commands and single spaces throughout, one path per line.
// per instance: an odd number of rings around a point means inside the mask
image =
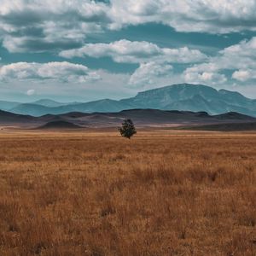
M 124 119 L 132 119 L 137 127 L 184 127 L 195 125 L 251 124 L 256 118 L 241 113 L 209 115 L 206 112 L 191 112 L 157 109 L 131 109 L 117 113 L 64 113 L 46 114 L 41 117 L 0 111 L 0 126 L 17 128 L 102 128 L 118 127 Z

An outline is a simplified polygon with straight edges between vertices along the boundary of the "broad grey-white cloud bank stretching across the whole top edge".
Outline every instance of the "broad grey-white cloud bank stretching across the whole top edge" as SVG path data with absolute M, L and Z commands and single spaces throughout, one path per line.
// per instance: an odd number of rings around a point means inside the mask
M 253 0 L 2 0 L 0 39 L 10 52 L 81 47 L 87 35 L 155 22 L 180 32 L 256 31 Z

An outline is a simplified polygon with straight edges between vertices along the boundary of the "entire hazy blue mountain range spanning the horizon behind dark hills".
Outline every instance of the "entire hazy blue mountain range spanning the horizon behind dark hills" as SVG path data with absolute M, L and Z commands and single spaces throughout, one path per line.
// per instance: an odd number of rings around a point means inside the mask
M 116 113 L 127 109 L 204 111 L 209 114 L 237 112 L 256 117 L 256 100 L 236 91 L 216 90 L 202 84 L 173 84 L 139 92 L 119 101 L 103 99 L 94 102 L 61 103 L 49 99 L 32 103 L 0 101 L 0 109 L 11 113 L 42 116 L 45 114 Z

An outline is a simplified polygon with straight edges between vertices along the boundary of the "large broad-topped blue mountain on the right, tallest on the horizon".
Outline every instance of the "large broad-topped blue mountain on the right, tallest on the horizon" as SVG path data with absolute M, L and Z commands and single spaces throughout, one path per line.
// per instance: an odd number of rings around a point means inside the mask
M 256 101 L 229 90 L 215 90 L 201 84 L 174 84 L 139 92 L 122 100 L 137 108 L 206 111 L 210 114 L 239 112 L 256 116 Z

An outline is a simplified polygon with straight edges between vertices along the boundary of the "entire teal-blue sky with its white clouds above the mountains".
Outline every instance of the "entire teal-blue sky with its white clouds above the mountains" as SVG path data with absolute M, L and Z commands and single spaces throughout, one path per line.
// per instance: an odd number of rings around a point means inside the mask
M 0 100 L 120 99 L 179 83 L 256 98 L 255 0 L 0 2 Z

